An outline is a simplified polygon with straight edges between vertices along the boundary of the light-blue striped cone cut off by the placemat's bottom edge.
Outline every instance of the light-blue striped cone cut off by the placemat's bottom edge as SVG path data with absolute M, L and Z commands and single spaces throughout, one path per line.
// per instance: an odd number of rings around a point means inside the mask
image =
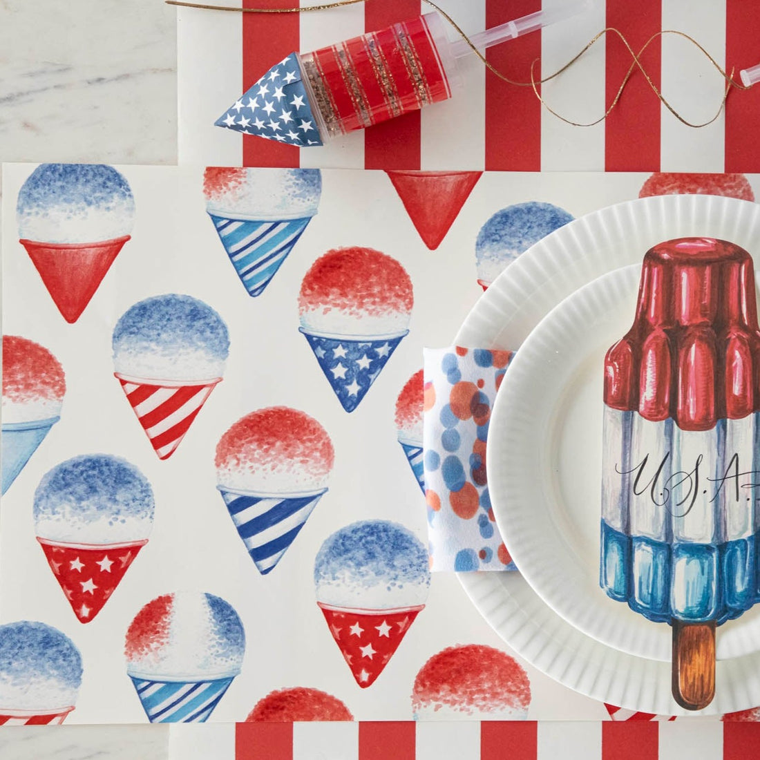
M 160 681 L 129 677 L 150 723 L 205 723 L 235 678 Z

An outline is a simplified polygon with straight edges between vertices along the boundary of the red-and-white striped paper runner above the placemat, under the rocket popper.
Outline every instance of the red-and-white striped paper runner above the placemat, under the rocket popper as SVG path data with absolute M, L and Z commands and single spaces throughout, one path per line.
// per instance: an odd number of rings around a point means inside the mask
M 246 7 L 291 7 L 294 0 L 242 0 Z M 301 0 L 302 6 L 319 0 Z M 565 0 L 543 0 L 543 8 Z M 467 33 L 537 11 L 541 0 L 440 0 Z M 760 87 L 733 92 L 724 115 L 692 129 L 679 123 L 636 73 L 606 122 L 564 124 L 540 106 L 530 87 L 511 87 L 474 56 L 461 59 L 464 91 L 423 112 L 349 135 L 325 147 L 296 147 L 243 137 L 214 119 L 272 62 L 387 26 L 430 9 L 420 0 L 366 3 L 305 14 L 214 14 L 182 9 L 179 25 L 180 160 L 247 166 L 338 166 L 368 169 L 607 171 L 760 171 Z M 541 57 L 546 75 L 599 30 L 616 27 L 634 49 L 661 29 L 694 36 L 729 70 L 760 60 L 760 3 L 751 0 L 600 0 L 594 9 L 488 52 L 511 78 L 530 78 Z M 723 80 L 694 46 L 656 40 L 642 61 L 683 116 L 714 115 Z M 213 64 L 213 65 L 212 65 Z M 574 67 L 543 87 L 547 102 L 577 122 L 603 114 L 631 58 L 616 36 L 600 40 Z M 541 67 L 539 67 L 541 68 Z M 229 101 L 229 103 L 227 102 Z

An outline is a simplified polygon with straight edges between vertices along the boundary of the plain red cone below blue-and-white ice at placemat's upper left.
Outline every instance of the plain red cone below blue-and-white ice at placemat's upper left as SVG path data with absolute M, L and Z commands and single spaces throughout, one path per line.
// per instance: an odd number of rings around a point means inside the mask
M 63 318 L 78 320 L 128 235 L 102 242 L 48 243 L 21 240 Z

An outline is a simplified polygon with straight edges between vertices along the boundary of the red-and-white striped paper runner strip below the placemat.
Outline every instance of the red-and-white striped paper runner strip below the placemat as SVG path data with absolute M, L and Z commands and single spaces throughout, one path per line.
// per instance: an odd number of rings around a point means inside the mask
M 760 724 L 683 719 L 173 726 L 177 760 L 749 760 Z

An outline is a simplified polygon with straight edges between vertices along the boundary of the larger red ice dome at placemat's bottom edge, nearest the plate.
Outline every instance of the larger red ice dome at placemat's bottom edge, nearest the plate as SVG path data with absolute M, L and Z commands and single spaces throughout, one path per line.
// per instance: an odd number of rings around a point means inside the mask
M 414 679 L 415 720 L 526 720 L 529 706 L 524 668 L 483 644 L 434 654 Z

